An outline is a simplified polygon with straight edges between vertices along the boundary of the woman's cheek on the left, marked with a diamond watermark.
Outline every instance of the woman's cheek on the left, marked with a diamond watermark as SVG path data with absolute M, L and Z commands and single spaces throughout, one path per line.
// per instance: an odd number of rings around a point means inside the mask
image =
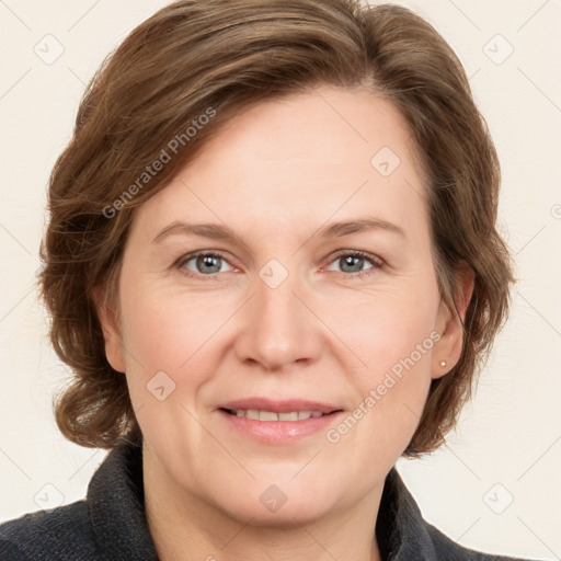
M 127 386 L 142 434 L 168 458 L 187 446 L 178 426 L 191 435 L 188 447 L 211 446 L 201 442 L 204 435 L 187 412 L 195 411 L 202 387 L 217 369 L 213 335 L 227 317 L 219 321 L 204 299 L 172 297 L 140 283 L 122 304 Z

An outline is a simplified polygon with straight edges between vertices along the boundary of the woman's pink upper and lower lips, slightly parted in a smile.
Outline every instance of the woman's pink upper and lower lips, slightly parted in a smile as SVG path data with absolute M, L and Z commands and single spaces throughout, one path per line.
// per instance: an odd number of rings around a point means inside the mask
M 301 421 L 257 421 L 247 416 L 236 416 L 227 413 L 225 409 L 256 409 L 275 413 L 288 413 L 290 411 L 321 411 L 323 416 Z M 286 445 L 296 440 L 312 436 L 319 432 L 324 434 L 329 426 L 339 422 L 343 410 L 329 403 L 307 400 L 270 400 L 266 398 L 248 398 L 221 404 L 217 408 L 220 419 L 228 424 L 230 430 L 262 444 Z

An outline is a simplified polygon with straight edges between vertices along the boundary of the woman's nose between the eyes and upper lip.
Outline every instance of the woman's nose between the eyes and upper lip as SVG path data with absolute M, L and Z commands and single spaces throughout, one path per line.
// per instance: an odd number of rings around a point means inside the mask
M 278 373 L 319 358 L 322 323 L 313 311 L 310 291 L 296 273 L 288 274 L 278 286 L 266 274 L 257 277 L 253 297 L 241 314 L 236 339 L 240 360 Z

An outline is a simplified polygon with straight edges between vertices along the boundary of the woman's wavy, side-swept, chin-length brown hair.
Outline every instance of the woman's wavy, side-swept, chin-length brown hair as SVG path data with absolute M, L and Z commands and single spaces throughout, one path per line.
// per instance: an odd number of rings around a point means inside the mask
M 404 454 L 444 442 L 508 310 L 511 257 L 495 229 L 500 167 L 443 37 L 405 8 L 359 0 L 181 0 L 136 27 L 93 77 L 49 180 L 41 245 L 50 340 L 73 371 L 56 402 L 67 438 L 108 448 L 140 436 L 92 296 L 104 287 L 107 301 L 118 301 L 135 207 L 165 187 L 221 123 L 322 83 L 368 87 L 402 112 L 426 170 L 435 270 L 453 309 L 458 267 L 467 262 L 476 274 L 460 359 L 432 381 Z

